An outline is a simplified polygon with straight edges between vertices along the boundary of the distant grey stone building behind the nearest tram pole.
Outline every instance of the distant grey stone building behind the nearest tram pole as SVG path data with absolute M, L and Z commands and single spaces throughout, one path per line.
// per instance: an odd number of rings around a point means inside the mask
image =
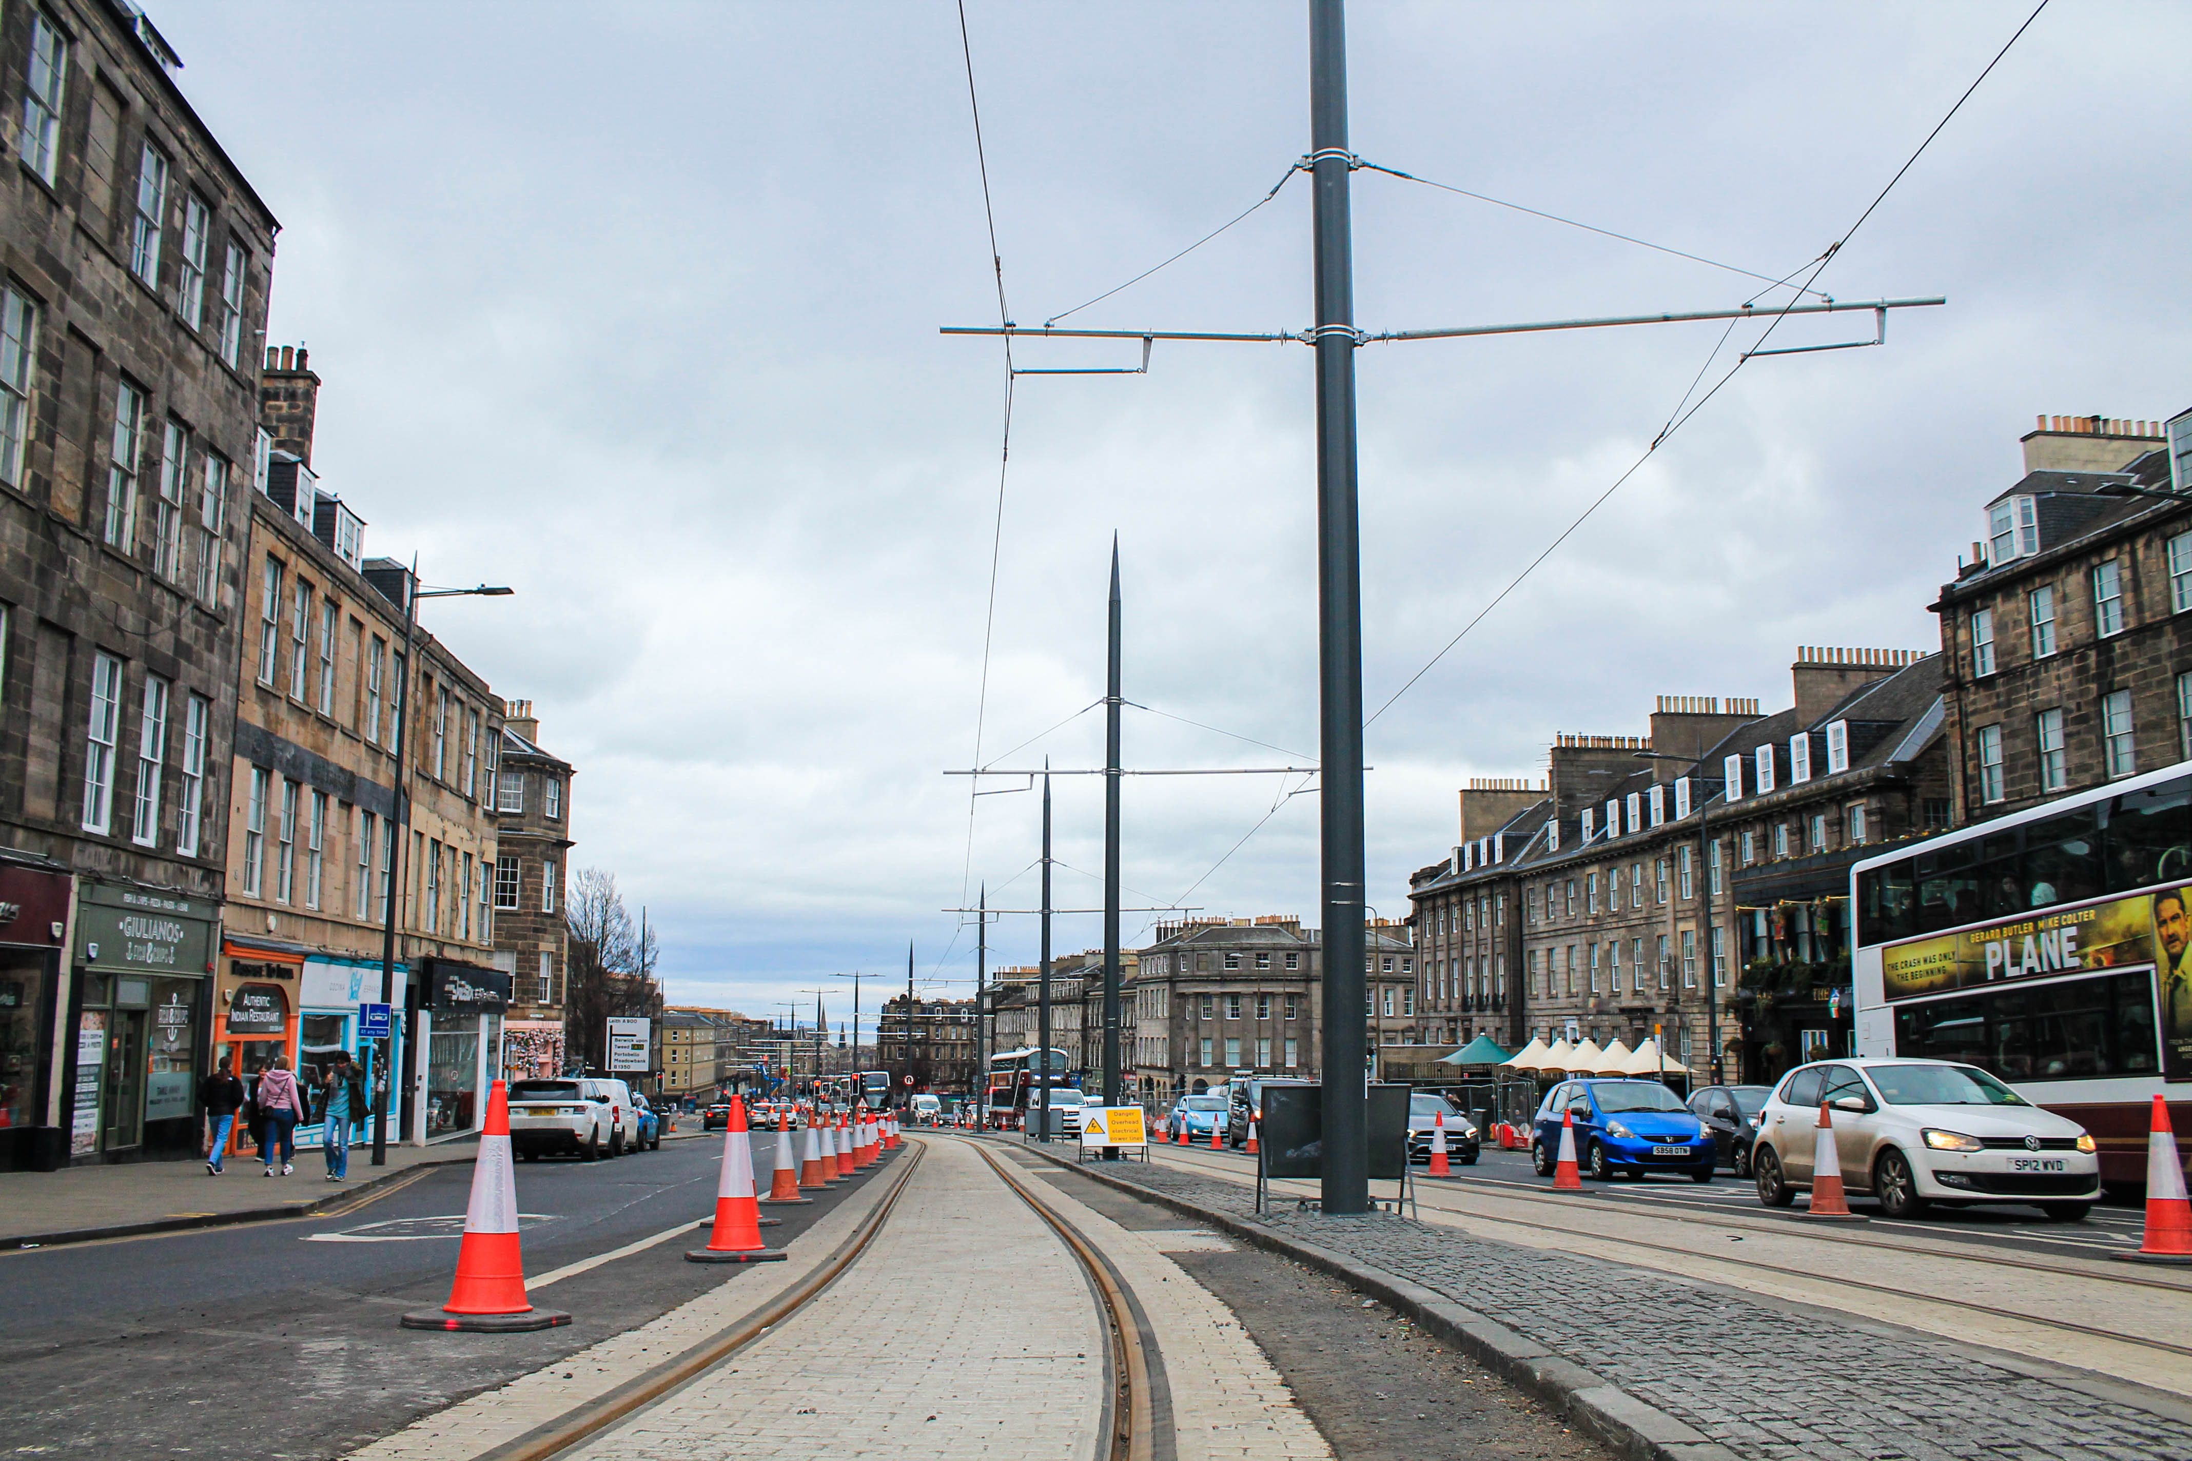
M 1366 1016 L 1372 1067 L 1416 1016 L 1416 948 L 1407 927 L 1366 927 Z M 1315 929 L 1293 916 L 1190 918 L 1157 924 L 1127 983 L 1131 1071 L 1144 1104 L 1223 1084 L 1234 1075 L 1300 1075 L 1324 1065 L 1324 968 Z

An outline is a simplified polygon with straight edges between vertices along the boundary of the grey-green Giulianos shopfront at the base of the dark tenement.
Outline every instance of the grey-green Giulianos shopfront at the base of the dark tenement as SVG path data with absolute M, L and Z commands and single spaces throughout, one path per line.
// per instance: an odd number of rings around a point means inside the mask
M 79 885 L 66 1051 L 72 1163 L 199 1154 L 217 913 L 210 898 Z

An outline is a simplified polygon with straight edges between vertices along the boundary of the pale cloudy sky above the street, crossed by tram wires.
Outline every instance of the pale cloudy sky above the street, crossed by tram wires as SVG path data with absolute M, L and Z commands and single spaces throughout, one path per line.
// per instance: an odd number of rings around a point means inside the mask
M 1352 142 L 1782 276 L 1850 228 L 2028 9 L 1363 0 Z M 969 4 L 1019 322 L 1287 173 L 1309 149 L 1304 11 Z M 1100 764 L 1098 712 L 1019 743 L 1103 694 L 1114 530 L 1127 694 L 1151 708 L 1129 712 L 1129 764 L 1285 764 L 1249 740 L 1313 756 L 1311 355 L 1269 344 L 1019 381 L 978 751 L 1004 359 L 936 333 L 997 318 L 949 0 L 171 0 L 153 20 L 283 219 L 270 340 L 309 344 L 324 377 L 322 480 L 370 519 L 368 550 L 517 589 L 436 605 L 432 629 L 533 699 L 579 767 L 574 865 L 647 905 L 673 999 L 765 1014 L 833 988 L 835 1023 L 850 988 L 831 975 L 903 981 L 907 940 L 929 988 L 971 986 L 973 933 L 943 909 L 984 881 L 1032 905 L 1039 806 L 971 808 L 943 771 Z M 1797 644 L 1936 644 L 1927 602 L 2036 414 L 2192 403 L 2188 46 L 2185 7 L 2056 0 L 1819 280 L 1949 307 L 1896 313 L 1881 350 L 1745 368 L 1372 725 L 1381 913 L 1455 841 L 1455 789 L 1541 775 L 1556 732 L 1640 734 L 1655 694 L 1786 705 Z M 1377 173 L 1355 204 L 1366 329 L 1760 287 Z M 1302 180 L 1072 322 L 1306 326 Z M 1868 333 L 1870 315 L 1793 320 L 1776 344 Z M 1719 340 L 1359 353 L 1370 705 L 1637 458 Z M 1129 902 L 1313 920 L 1315 795 L 1271 813 L 1295 784 L 1129 782 Z M 1065 907 L 1098 902 L 1100 826 L 1096 778 L 1063 778 Z M 1059 948 L 1096 940 L 1096 918 L 1061 920 Z M 993 944 L 1032 959 L 1035 920 Z

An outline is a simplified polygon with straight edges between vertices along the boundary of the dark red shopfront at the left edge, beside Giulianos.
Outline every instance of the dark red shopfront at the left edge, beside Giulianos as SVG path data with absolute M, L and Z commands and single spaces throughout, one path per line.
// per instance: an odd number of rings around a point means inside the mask
M 53 1100 L 53 1001 L 61 988 L 68 874 L 0 863 L 0 1172 L 53 1172 L 68 1141 Z

